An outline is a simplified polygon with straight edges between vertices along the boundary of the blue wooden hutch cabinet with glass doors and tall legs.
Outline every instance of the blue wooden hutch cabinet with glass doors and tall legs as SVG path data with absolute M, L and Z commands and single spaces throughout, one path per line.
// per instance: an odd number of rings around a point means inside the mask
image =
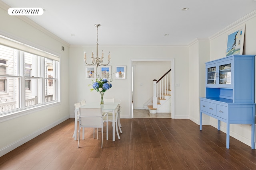
M 202 113 L 227 124 L 226 148 L 229 148 L 230 124 L 252 125 L 252 149 L 254 149 L 255 55 L 232 55 L 206 63 L 206 97 L 200 98 L 200 130 Z

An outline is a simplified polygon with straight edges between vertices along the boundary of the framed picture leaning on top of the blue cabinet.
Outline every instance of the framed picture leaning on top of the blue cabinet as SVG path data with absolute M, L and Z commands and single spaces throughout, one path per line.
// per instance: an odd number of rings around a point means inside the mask
M 245 25 L 234 29 L 227 36 L 226 57 L 234 54 L 243 54 Z

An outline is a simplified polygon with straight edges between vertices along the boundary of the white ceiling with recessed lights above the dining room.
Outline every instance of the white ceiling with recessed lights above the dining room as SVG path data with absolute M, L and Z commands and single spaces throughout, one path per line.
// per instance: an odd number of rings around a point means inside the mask
M 189 45 L 256 10 L 256 0 L 2 0 L 70 45 Z M 189 10 L 182 10 L 189 8 Z M 169 34 L 165 36 L 165 34 Z

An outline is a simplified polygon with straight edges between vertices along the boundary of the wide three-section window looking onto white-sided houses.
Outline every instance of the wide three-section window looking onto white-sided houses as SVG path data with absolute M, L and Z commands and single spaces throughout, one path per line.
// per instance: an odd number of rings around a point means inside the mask
M 33 53 L 0 44 L 0 115 L 57 102 L 59 62 Z

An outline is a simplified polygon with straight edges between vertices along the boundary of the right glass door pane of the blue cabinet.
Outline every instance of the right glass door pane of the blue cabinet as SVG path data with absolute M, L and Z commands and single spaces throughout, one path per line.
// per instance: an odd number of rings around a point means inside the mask
M 231 84 L 231 63 L 219 66 L 219 84 Z

